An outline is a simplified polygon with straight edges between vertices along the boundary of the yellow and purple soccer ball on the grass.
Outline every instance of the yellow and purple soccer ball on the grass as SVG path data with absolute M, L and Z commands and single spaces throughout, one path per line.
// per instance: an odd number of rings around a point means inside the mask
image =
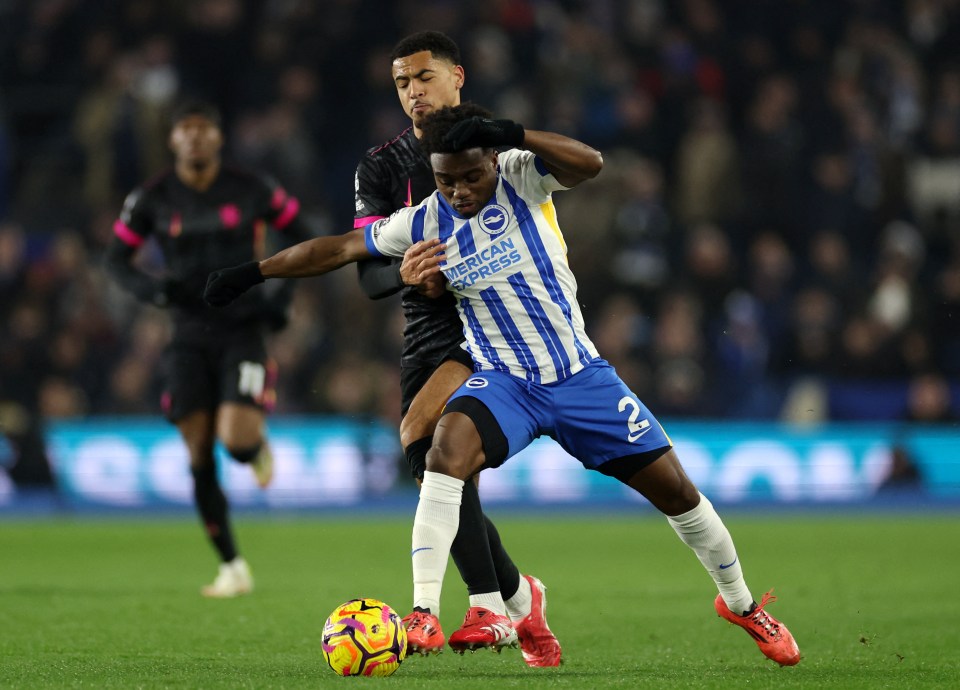
M 323 626 L 323 658 L 341 676 L 389 676 L 407 655 L 407 631 L 377 599 L 341 604 Z

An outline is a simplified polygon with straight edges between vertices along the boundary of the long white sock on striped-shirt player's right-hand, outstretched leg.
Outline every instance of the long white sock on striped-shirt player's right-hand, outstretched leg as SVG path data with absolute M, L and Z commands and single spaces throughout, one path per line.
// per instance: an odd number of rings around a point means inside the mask
M 667 520 L 717 583 L 727 607 L 737 614 L 749 610 L 753 596 L 743 580 L 737 549 L 707 497 L 700 494 L 696 508 L 676 517 L 668 515 Z

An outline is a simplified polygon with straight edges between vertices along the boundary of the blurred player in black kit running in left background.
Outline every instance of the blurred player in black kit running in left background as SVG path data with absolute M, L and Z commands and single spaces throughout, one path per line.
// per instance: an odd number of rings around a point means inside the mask
M 310 237 L 297 199 L 265 176 L 224 166 L 223 143 L 215 107 L 181 105 L 169 139 L 173 169 L 130 193 L 107 250 L 114 279 L 172 315 L 162 405 L 186 443 L 197 510 L 220 556 L 219 573 L 202 589 L 216 598 L 249 593 L 253 578 L 234 540 L 214 446 L 219 439 L 237 462 L 251 466 L 262 488 L 270 484 L 264 409 L 273 402 L 275 372 L 264 338 L 285 325 L 293 286 L 255 290 L 229 309 L 214 310 L 203 302 L 204 281 L 224 262 L 263 255 L 267 224 L 289 243 Z M 137 264 L 138 250 L 151 238 L 163 255 L 160 277 Z

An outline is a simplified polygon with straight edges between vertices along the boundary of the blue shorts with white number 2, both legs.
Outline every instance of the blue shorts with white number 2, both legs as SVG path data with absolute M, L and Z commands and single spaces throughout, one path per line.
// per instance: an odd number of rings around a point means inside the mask
M 466 400 L 455 402 L 461 398 L 481 402 L 489 415 L 472 414 Z M 539 436 L 553 438 L 584 467 L 601 472 L 618 458 L 645 455 L 652 462 L 672 445 L 660 422 L 602 359 L 546 385 L 497 371 L 475 373 L 447 402 L 445 412 L 453 411 L 477 425 L 487 453 L 484 467 L 499 466 Z M 497 436 L 491 424 L 499 426 L 505 444 L 488 444 Z

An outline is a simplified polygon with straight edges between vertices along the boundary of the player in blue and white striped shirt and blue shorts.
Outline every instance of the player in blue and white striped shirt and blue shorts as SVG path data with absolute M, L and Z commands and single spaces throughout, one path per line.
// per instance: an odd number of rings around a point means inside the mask
M 664 513 L 716 583 L 717 613 L 744 628 L 767 657 L 798 663 L 793 636 L 766 611 L 773 597 L 754 600 L 710 501 L 584 331 L 552 194 L 595 177 L 600 153 L 492 120 L 472 104 L 434 113 L 423 130 L 437 192 L 419 206 L 372 223 L 362 236 L 310 240 L 214 272 L 206 291 L 211 304 L 227 304 L 264 278 L 319 275 L 411 247 L 423 276 L 446 277 L 476 371 L 444 409 L 427 455 L 413 525 L 414 610 L 434 616 L 439 606 L 464 482 L 548 435 L 585 468 L 615 477 Z M 501 146 L 514 148 L 498 154 Z M 504 606 L 494 610 L 502 615 Z

